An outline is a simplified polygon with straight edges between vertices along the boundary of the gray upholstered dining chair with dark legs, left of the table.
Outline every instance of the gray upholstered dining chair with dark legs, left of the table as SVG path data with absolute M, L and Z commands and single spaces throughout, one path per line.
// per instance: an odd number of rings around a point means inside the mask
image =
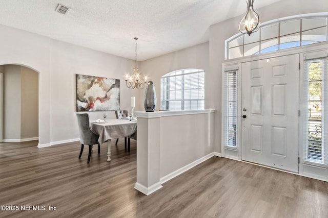
M 98 154 L 100 153 L 100 144 L 98 142 L 99 135 L 91 132 L 88 113 L 77 113 L 76 117 L 77 117 L 77 124 L 78 124 L 78 130 L 80 133 L 80 141 L 81 141 L 81 151 L 80 151 L 80 155 L 78 156 L 78 159 L 81 158 L 84 145 L 88 144 L 89 146 L 88 163 L 89 163 L 93 144 L 98 144 Z

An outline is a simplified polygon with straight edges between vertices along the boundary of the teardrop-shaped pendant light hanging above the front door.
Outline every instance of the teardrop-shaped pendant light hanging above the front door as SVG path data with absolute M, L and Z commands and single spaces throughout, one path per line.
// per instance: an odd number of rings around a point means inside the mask
M 258 31 L 260 28 L 260 18 L 254 11 L 254 0 L 248 0 L 247 11 L 239 23 L 239 31 L 243 34 L 247 33 L 249 36 Z

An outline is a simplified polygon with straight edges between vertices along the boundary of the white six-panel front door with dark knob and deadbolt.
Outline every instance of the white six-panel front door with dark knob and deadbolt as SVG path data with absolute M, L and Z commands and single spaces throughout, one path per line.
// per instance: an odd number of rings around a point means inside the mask
M 299 55 L 241 69 L 241 159 L 298 172 Z

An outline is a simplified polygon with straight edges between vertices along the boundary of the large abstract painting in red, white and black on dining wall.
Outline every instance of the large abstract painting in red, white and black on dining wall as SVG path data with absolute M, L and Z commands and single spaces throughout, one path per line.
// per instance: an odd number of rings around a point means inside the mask
M 119 110 L 119 80 L 76 75 L 76 111 Z

